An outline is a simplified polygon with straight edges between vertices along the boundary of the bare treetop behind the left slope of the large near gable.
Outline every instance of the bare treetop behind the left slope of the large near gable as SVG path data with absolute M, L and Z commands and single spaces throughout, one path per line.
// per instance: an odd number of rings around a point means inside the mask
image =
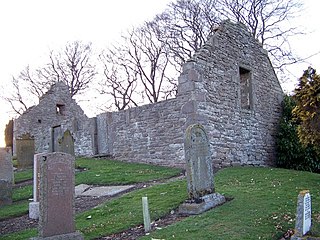
M 177 70 L 201 48 L 219 22 L 214 6 L 215 0 L 178 0 L 149 23 L 169 49 Z

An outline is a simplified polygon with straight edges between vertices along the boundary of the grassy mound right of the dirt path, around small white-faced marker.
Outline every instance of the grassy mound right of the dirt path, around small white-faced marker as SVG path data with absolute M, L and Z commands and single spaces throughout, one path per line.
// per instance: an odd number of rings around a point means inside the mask
M 216 190 L 234 199 L 141 239 L 279 239 L 294 228 L 297 196 L 312 196 L 313 234 L 320 235 L 320 175 L 271 168 L 228 168 Z

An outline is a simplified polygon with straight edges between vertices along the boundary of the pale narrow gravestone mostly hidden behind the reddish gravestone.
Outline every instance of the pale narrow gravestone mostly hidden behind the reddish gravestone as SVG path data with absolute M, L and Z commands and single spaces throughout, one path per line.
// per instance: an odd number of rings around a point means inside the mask
M 33 200 L 29 203 L 29 218 L 39 219 L 40 160 L 46 153 L 38 153 L 33 159 Z

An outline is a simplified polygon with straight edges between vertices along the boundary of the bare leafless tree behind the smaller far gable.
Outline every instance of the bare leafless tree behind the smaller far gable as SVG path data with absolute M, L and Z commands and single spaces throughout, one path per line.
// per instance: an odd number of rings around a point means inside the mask
M 91 57 L 91 44 L 68 43 L 61 52 L 51 51 L 49 63 L 44 67 L 32 70 L 27 66 L 17 77 L 13 77 L 12 92 L 1 97 L 20 115 L 55 82 L 64 82 L 71 96 L 74 96 L 88 88 L 97 74 Z

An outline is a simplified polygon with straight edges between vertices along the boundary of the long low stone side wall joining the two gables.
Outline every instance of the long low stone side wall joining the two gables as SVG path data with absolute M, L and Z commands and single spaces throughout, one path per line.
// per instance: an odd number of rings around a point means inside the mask
M 126 161 L 183 167 L 187 115 L 181 112 L 179 100 L 98 115 L 98 142 L 103 143 L 99 153 Z

